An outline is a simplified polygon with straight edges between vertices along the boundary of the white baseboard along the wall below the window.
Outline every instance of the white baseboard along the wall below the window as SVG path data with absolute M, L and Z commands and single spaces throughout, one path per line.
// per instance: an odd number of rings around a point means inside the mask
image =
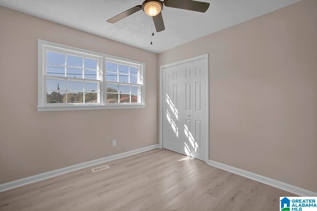
M 113 160 L 116 160 L 116 159 L 119 159 L 119 158 L 124 158 L 124 157 L 130 156 L 130 155 L 135 155 L 135 154 L 138 154 L 138 153 L 141 153 L 141 152 L 145 152 L 145 151 L 148 151 L 148 150 L 151 150 L 151 149 L 156 149 L 156 148 L 159 148 L 159 144 L 155 144 L 155 145 L 152 145 L 152 146 L 148 146 L 148 147 L 144 147 L 144 148 L 141 148 L 141 149 L 136 149 L 136 150 L 132 150 L 132 151 L 116 154 L 116 155 L 111 155 L 111 156 L 108 156 L 108 157 L 105 157 L 105 158 L 100 158 L 100 159 L 96 159 L 96 160 L 93 160 L 93 161 L 88 161 L 88 162 L 85 162 L 85 163 L 81 163 L 81 164 L 77 164 L 77 165 L 74 165 L 74 166 L 65 167 L 65 168 L 62 168 L 62 169 L 56 169 L 56 170 L 44 172 L 44 173 L 37 174 L 37 175 L 34 175 L 34 176 L 29 176 L 29 177 L 26 177 L 26 178 L 14 180 L 12 182 L 3 183 L 3 184 L 0 184 L 0 192 L 6 191 L 6 190 L 10 190 L 10 189 L 13 189 L 13 188 L 16 188 L 16 187 L 20 187 L 20 186 L 23 186 L 23 185 L 27 185 L 27 184 L 30 184 L 30 183 L 33 183 L 33 182 L 41 181 L 41 180 L 44 180 L 44 179 L 48 179 L 48 178 L 51 178 L 51 177 L 54 177 L 54 176 L 58 176 L 60 174 L 68 173 L 68 172 L 71 172 L 71 171 L 74 171 L 74 170 L 84 169 L 84 168 L 87 168 L 87 167 L 91 167 L 91 166 L 94 166 L 94 165 L 106 163 L 106 162 L 109 162 L 109 161 L 113 161 Z

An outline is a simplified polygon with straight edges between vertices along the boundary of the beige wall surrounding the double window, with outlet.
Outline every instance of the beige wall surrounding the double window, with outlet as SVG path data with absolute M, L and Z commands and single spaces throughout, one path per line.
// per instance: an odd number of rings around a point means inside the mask
M 37 112 L 38 39 L 145 62 L 146 108 Z M 0 7 L 0 184 L 153 144 L 157 54 Z

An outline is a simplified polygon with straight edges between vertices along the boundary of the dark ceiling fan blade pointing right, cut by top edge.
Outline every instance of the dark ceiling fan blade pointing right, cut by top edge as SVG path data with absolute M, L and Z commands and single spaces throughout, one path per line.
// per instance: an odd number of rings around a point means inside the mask
M 210 3 L 194 0 L 164 0 L 164 5 L 179 9 L 187 9 L 196 12 L 206 12 Z

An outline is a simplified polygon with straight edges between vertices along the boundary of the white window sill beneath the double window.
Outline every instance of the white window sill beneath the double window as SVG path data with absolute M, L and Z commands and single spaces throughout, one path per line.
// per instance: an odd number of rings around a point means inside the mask
M 131 109 L 145 108 L 145 105 L 76 105 L 76 106 L 38 106 L 38 111 L 80 111 L 80 110 L 104 110 L 104 109 Z

